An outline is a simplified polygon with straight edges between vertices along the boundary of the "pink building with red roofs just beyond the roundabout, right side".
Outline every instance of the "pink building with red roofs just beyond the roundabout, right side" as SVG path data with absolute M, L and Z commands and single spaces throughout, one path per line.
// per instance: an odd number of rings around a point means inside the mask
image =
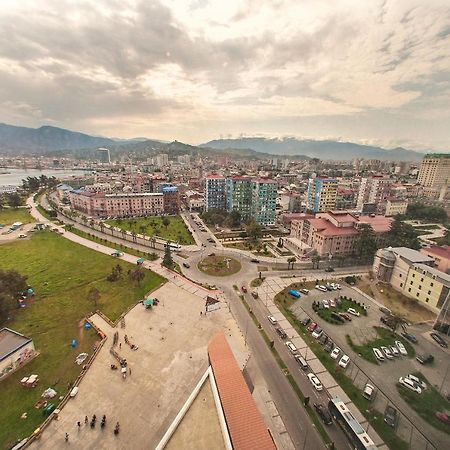
M 286 245 L 295 253 L 308 256 L 348 256 L 355 253 L 362 224 L 369 224 L 382 245 L 392 223 L 391 218 L 371 215 L 356 217 L 348 211 L 329 211 L 311 218 L 293 220 Z

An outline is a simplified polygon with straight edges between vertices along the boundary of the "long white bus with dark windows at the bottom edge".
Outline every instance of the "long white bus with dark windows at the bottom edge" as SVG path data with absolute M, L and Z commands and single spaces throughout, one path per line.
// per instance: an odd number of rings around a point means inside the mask
M 355 450 L 377 450 L 370 436 L 339 397 L 330 399 L 328 409 Z

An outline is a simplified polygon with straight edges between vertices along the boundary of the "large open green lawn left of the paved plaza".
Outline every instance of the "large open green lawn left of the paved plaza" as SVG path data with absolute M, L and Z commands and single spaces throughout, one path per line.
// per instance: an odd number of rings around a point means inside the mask
M 124 276 L 117 282 L 106 281 L 116 264 Z M 0 381 L 0 448 L 9 448 L 17 439 L 29 435 L 42 421 L 42 411 L 34 404 L 42 392 L 52 386 L 64 395 L 81 367 L 75 357 L 83 351 L 92 354 L 98 340 L 95 332 L 83 329 L 83 317 L 95 306 L 87 300 L 92 287 L 101 293 L 98 309 L 116 320 L 130 305 L 163 283 L 150 271 L 140 286 L 127 276 L 134 265 L 114 259 L 73 243 L 48 231 L 36 232 L 31 239 L 0 246 L 0 267 L 15 268 L 28 276 L 36 296 L 26 308 L 16 310 L 6 324 L 34 340 L 40 355 L 15 374 Z M 78 340 L 72 349 L 70 342 Z M 25 389 L 19 380 L 32 373 L 40 382 L 35 389 Z M 20 419 L 27 412 L 26 420 Z

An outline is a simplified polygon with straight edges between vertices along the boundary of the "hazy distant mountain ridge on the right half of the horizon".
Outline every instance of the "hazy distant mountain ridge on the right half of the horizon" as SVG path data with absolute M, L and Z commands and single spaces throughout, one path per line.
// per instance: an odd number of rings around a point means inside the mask
M 338 142 L 331 140 L 316 141 L 311 139 L 257 138 L 217 139 L 201 144 L 201 147 L 212 147 L 221 150 L 252 149 L 273 155 L 307 155 L 311 158 L 351 160 L 353 158 L 383 159 L 398 161 L 419 161 L 423 155 L 404 148 L 387 150 L 381 147 Z

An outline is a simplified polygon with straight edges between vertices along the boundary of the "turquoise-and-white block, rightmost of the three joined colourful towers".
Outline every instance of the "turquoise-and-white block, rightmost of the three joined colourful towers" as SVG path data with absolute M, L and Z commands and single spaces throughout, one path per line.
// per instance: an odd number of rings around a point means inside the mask
M 277 188 L 274 180 L 252 180 L 251 218 L 260 225 L 275 225 Z

